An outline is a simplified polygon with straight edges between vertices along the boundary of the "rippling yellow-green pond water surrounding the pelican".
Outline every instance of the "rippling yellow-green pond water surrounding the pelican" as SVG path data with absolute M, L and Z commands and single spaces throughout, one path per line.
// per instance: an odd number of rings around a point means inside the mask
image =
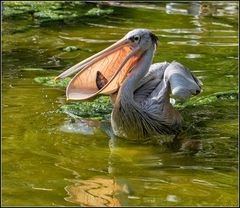
M 204 83 L 199 96 L 238 89 L 238 3 L 212 4 L 212 15 L 193 3 L 132 3 L 65 24 L 3 19 L 2 205 L 237 206 L 236 100 L 183 110 L 195 129 L 184 140 L 202 146 L 189 152 L 115 141 L 103 123 L 59 111 L 63 88 L 34 81 L 148 28 L 160 39 L 154 62 L 190 68 Z

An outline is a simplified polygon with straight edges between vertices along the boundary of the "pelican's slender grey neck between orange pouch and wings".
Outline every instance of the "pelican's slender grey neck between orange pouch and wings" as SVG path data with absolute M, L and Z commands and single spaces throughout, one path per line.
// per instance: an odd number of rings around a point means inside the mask
M 134 91 L 137 88 L 139 81 L 146 75 L 151 64 L 153 55 L 155 52 L 155 46 L 144 52 L 141 60 L 134 67 L 127 79 L 123 82 L 121 87 L 121 98 L 133 100 Z

